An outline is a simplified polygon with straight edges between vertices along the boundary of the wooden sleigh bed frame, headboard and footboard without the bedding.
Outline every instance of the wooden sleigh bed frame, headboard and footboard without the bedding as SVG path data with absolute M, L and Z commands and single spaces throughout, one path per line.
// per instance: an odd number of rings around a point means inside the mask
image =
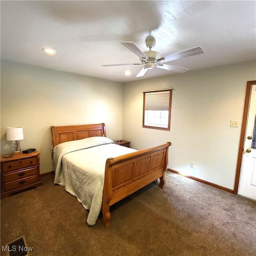
M 94 136 L 106 137 L 105 124 L 52 126 L 53 146 Z M 160 178 L 159 187 L 165 184 L 164 172 L 168 164 L 168 147 L 171 142 L 138 150 L 122 156 L 108 158 L 102 196 L 102 224 L 110 225 L 110 206 L 133 192 Z M 122 146 L 120 146 L 122 147 Z

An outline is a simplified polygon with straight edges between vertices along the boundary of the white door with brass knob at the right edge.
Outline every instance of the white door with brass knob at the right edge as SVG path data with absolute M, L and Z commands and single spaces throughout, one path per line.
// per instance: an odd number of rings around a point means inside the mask
M 252 146 L 252 138 L 256 136 L 256 84 L 251 87 L 250 105 L 247 117 L 246 135 L 238 194 L 256 200 L 256 148 Z M 254 137 L 253 137 L 254 134 Z

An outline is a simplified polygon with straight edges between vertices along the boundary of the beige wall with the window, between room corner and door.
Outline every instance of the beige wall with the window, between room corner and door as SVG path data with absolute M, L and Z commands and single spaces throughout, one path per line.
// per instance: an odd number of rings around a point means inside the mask
M 138 149 L 170 141 L 168 168 L 234 189 L 246 82 L 255 73 L 255 62 L 244 62 L 125 83 L 123 139 Z M 142 91 L 160 88 L 174 88 L 170 131 L 142 128 Z

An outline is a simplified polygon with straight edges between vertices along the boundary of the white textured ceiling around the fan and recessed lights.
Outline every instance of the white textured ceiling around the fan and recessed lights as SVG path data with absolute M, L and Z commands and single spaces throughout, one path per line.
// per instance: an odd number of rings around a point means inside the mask
M 119 82 L 173 74 L 153 68 L 136 78 L 141 66 L 101 66 L 138 63 L 120 42 L 146 51 L 148 35 L 162 56 L 201 46 L 204 54 L 165 63 L 189 70 L 256 59 L 256 1 L 0 3 L 1 58 L 7 60 Z M 47 46 L 57 54 L 46 55 Z

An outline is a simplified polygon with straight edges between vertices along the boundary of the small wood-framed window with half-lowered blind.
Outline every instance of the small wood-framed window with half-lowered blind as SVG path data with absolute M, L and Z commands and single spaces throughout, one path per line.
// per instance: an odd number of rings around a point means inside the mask
M 172 89 L 143 92 L 143 127 L 170 130 Z

